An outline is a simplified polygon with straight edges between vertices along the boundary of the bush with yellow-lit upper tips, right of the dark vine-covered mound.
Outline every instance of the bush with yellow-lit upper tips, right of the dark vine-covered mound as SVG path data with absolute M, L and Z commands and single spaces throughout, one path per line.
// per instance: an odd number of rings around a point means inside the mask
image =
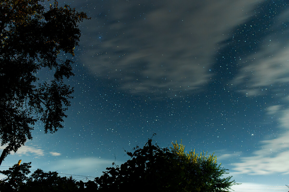
M 229 191 L 232 185 L 237 183 L 233 180 L 230 181 L 232 176 L 224 178 L 224 174 L 228 174 L 225 168 L 221 167 L 221 164 L 217 164 L 217 157 L 208 155 L 208 152 L 201 152 L 200 154 L 190 151 L 186 153 L 185 146 L 178 144 L 177 141 L 171 148 L 172 153 L 175 154 L 175 159 L 182 162 L 182 169 L 186 170 L 184 175 L 187 183 L 193 183 L 195 187 L 186 188 L 188 191 Z

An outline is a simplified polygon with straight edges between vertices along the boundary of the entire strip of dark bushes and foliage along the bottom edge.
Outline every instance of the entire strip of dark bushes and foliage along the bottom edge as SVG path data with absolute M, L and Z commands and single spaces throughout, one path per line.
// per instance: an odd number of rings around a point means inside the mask
M 14 165 L 0 171 L 7 176 L 0 183 L 0 191 L 224 192 L 236 184 L 231 176 L 223 177 L 227 172 L 217 164 L 216 156 L 186 153 L 184 145 L 177 142 L 171 150 L 151 142 L 149 139 L 142 149 L 136 147 L 134 153 L 127 152 L 127 162 L 106 168 L 101 177 L 87 183 L 40 169 L 27 177 L 31 162 Z

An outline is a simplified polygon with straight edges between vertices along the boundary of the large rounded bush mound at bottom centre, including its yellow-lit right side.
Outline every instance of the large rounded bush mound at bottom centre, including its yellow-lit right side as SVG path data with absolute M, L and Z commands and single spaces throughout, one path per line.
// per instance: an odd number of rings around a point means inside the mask
M 229 191 L 230 181 L 216 156 L 184 152 L 182 144 L 173 144 L 172 151 L 151 145 L 150 139 L 143 149 L 137 148 L 120 167 L 106 168 L 95 178 L 99 191 Z

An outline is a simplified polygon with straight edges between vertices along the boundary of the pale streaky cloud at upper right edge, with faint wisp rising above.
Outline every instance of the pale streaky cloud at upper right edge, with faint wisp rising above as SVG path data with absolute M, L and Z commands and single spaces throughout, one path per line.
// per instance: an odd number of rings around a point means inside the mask
M 284 11 L 272 19 L 268 26 L 270 35 L 262 38 L 262 46 L 256 52 L 248 54 L 240 60 L 244 66 L 231 83 L 241 87 L 239 90 L 248 96 L 264 94 L 286 94 L 283 89 L 289 83 L 289 32 L 283 29 L 287 22 L 289 11 Z M 270 90 L 270 92 L 269 92 Z M 283 97 L 285 98 L 285 97 Z M 281 99 L 281 98 L 280 98 Z

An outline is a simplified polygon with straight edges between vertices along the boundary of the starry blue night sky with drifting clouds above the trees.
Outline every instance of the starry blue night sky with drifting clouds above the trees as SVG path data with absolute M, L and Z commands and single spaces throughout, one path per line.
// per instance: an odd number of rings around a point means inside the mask
M 22 159 L 94 178 L 156 133 L 160 147 L 214 152 L 243 183 L 236 192 L 289 184 L 288 1 L 58 2 L 91 17 L 79 24 L 64 129 L 39 124 L 2 170 Z

